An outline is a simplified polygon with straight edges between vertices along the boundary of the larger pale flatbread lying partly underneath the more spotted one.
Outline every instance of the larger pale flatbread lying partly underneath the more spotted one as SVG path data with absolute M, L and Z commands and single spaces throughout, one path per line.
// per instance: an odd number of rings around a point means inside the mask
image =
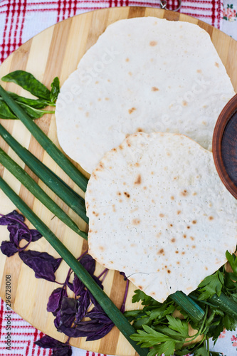
M 211 150 L 218 114 L 234 94 L 204 29 L 154 17 L 120 20 L 63 83 L 58 141 L 88 173 L 137 131 L 182 133 Z

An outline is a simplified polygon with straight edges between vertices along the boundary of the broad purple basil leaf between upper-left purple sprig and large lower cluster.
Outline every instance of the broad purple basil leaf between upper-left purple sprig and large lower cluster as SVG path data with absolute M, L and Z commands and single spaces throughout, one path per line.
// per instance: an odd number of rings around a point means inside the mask
M 62 258 L 54 258 L 47 252 L 38 251 L 20 251 L 19 256 L 23 263 L 33 269 L 36 278 L 43 278 L 47 281 L 54 282 L 55 271 L 58 269 Z

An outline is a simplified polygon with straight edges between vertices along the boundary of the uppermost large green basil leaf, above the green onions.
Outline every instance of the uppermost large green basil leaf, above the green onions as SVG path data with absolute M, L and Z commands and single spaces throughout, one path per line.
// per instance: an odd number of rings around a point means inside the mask
M 4 82 L 16 83 L 37 98 L 50 100 L 50 90 L 39 82 L 31 73 L 24 70 L 15 70 L 14 72 L 5 75 L 1 80 L 4 80 Z

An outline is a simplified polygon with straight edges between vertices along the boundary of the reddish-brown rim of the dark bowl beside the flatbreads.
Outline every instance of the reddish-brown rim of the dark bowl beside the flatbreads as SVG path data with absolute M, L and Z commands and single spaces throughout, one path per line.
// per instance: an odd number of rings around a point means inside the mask
M 212 152 L 214 157 L 214 164 L 216 166 L 216 171 L 218 172 L 221 182 L 225 185 L 226 189 L 237 199 L 237 187 L 236 184 L 231 180 L 226 171 L 226 167 L 223 164 L 221 146 L 223 132 L 226 129 L 226 125 L 232 119 L 233 115 L 237 112 L 237 94 L 228 101 L 223 110 L 221 111 L 216 125 L 214 127 L 214 134 L 212 139 Z

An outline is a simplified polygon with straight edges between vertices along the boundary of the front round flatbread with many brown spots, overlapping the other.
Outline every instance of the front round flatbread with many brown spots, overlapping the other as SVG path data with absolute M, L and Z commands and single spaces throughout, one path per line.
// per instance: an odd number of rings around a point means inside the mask
M 85 203 L 89 253 L 163 302 L 226 263 L 237 201 L 211 152 L 184 135 L 136 133 L 102 158 Z

